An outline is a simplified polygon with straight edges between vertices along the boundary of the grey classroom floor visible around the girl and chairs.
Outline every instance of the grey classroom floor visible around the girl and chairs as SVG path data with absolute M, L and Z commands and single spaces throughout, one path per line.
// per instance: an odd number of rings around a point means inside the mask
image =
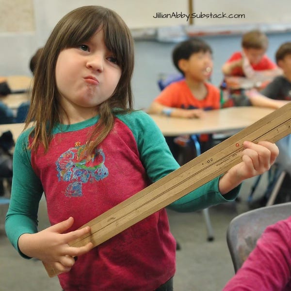
M 255 195 L 264 189 L 264 179 Z M 207 241 L 202 211 L 177 213 L 168 211 L 171 231 L 181 245 L 177 251 L 175 291 L 220 291 L 234 275 L 226 245 L 226 229 L 233 217 L 248 210 L 246 198 L 254 179 L 245 181 L 240 192 L 241 202 L 210 208 L 214 240 Z M 3 221 L 3 218 L 0 218 Z M 0 221 L 1 222 L 1 221 Z M 45 201 L 39 210 L 40 229 L 48 226 Z M 0 229 L 0 291 L 61 291 L 57 278 L 49 278 L 38 260 L 22 259 L 12 247 L 3 227 Z

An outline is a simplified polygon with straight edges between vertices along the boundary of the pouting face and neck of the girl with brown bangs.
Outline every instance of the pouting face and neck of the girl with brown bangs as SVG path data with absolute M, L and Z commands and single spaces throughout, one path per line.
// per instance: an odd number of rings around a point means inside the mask
M 97 31 L 85 43 L 60 52 L 56 63 L 59 103 L 69 123 L 77 123 L 97 114 L 97 107 L 109 99 L 121 76 L 121 68 L 104 44 L 103 31 Z M 66 123 L 65 114 L 62 122 Z

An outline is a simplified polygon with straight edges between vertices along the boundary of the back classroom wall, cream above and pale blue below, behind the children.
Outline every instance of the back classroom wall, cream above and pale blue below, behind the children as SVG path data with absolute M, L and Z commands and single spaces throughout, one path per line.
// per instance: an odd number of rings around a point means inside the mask
M 0 76 L 29 75 L 29 60 L 42 47 L 58 20 L 83 5 L 112 8 L 126 21 L 135 38 L 135 69 L 132 80 L 135 109 L 147 108 L 159 94 L 157 80 L 175 74 L 171 52 L 189 35 L 200 36 L 213 49 L 211 82 L 222 81 L 221 66 L 240 50 L 243 32 L 260 29 L 269 37 L 268 56 L 274 61 L 280 44 L 291 40 L 289 0 L 0 0 Z M 181 14 L 244 15 L 242 18 L 200 17 L 186 20 Z M 176 16 L 154 18 L 158 15 Z M 5 16 L 5 17 L 3 17 Z M 189 25 L 190 22 L 193 24 Z

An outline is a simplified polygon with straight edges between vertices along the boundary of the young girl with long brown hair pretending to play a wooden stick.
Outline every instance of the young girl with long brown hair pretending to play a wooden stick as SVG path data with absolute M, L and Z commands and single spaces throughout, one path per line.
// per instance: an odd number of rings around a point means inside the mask
M 128 27 L 98 6 L 64 16 L 36 67 L 27 118 L 34 127 L 16 143 L 6 232 L 22 257 L 66 272 L 59 275 L 65 291 L 172 290 L 176 243 L 165 209 L 95 248 L 68 245 L 90 232 L 78 227 L 178 168 L 152 119 L 132 110 L 132 70 Z M 267 142 L 244 146 L 243 162 L 170 207 L 232 200 L 242 180 L 266 171 L 278 154 Z M 38 232 L 43 192 L 52 226 Z

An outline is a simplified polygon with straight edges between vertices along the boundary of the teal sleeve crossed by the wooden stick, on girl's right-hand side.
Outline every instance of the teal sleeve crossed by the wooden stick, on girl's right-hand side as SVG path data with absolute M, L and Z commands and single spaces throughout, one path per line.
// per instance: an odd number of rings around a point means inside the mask
M 178 162 L 172 156 L 161 130 L 152 118 L 141 111 L 127 115 L 124 117 L 124 122 L 128 124 L 134 134 L 140 159 L 151 181 L 155 182 L 178 169 Z M 234 200 L 239 194 L 240 186 L 222 195 L 218 190 L 219 178 L 217 177 L 183 196 L 170 204 L 168 208 L 180 212 L 195 211 Z

